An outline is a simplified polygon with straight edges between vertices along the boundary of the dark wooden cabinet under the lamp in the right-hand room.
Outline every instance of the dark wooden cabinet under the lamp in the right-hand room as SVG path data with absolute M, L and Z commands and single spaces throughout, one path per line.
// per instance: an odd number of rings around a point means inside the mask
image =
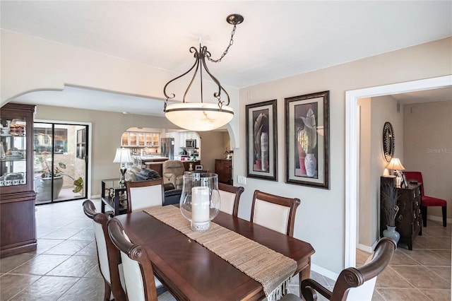
M 392 177 L 381 177 L 383 184 L 393 184 Z M 417 235 L 422 235 L 421 185 L 410 184 L 408 188 L 396 188 L 398 192 L 398 208 L 396 216 L 396 230 L 400 234 L 399 244 L 406 244 L 412 250 L 412 242 Z M 382 198 L 380 194 L 380 198 Z M 380 204 L 381 208 L 381 204 Z M 380 212 L 380 235 L 383 237 L 383 230 L 386 229 L 386 216 Z

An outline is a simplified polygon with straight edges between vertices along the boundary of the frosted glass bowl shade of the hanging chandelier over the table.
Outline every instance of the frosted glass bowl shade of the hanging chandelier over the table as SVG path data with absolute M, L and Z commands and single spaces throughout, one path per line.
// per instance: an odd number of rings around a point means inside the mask
M 228 124 L 234 117 L 234 110 L 227 105 L 220 110 L 217 103 L 183 102 L 167 105 L 165 117 L 182 129 L 211 131 Z

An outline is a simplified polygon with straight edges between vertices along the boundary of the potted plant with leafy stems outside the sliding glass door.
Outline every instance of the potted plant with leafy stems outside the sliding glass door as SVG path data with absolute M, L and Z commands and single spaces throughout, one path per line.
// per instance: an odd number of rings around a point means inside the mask
M 43 152 L 40 157 L 35 158 L 35 165 L 40 165 L 42 167 L 42 170 L 39 170 L 41 174 L 41 181 L 40 185 L 37 187 L 37 201 L 52 199 L 52 177 L 55 199 L 58 198 L 61 188 L 63 187 L 63 176 L 69 177 L 73 180 L 73 193 L 78 193 L 83 190 L 82 177 L 74 179 L 73 177 L 71 177 L 71 175 L 68 175 L 66 172 L 64 172 L 64 170 L 66 170 L 66 164 L 62 162 L 54 165 L 54 169 L 52 170 L 49 163 L 47 162 L 47 158 L 47 152 Z

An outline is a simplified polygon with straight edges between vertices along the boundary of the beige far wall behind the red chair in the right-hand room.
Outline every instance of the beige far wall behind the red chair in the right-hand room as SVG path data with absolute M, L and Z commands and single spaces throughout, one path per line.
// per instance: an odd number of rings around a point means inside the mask
M 452 98 L 452 95 L 451 95 Z M 403 166 L 422 172 L 424 193 L 452 201 L 452 100 L 405 105 Z M 442 220 L 441 207 L 429 207 L 429 218 Z M 447 206 L 452 217 L 452 206 Z M 428 227 L 428 222 L 427 222 Z

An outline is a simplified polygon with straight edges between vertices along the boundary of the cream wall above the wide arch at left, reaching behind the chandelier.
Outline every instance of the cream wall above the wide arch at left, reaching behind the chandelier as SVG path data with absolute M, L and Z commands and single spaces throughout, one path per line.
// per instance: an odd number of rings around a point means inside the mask
M 126 95 L 137 95 L 164 100 L 162 87 L 175 76 L 162 69 L 118 59 L 105 54 L 88 51 L 57 42 L 43 40 L 0 30 L 1 34 L 1 83 L 0 104 L 3 106 L 13 98 L 35 90 L 63 90 L 64 85 L 107 90 Z M 196 83 L 194 83 L 196 85 Z M 230 95 L 230 106 L 234 118 L 226 126 L 238 147 L 237 131 L 240 112 L 238 89 L 225 85 Z M 205 93 L 218 90 L 212 82 L 203 82 Z M 186 100 L 192 102 L 199 91 L 192 89 Z M 182 100 L 184 88 L 177 85 L 174 93 Z M 162 128 L 162 126 L 157 126 Z M 177 128 L 177 126 L 169 126 Z

